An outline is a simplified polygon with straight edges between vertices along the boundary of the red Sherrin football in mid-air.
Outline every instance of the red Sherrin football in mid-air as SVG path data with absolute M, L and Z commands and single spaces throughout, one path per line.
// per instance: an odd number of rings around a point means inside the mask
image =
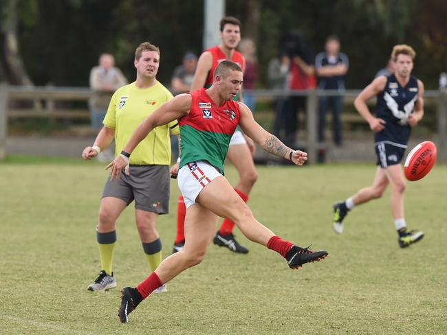
M 408 153 L 404 164 L 408 181 L 419 181 L 430 172 L 436 161 L 436 146 L 432 141 L 419 143 Z

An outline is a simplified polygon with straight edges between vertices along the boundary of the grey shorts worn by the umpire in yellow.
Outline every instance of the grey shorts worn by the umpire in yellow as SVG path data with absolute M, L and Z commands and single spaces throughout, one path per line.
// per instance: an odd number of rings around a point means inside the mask
M 120 181 L 105 183 L 101 198 L 111 196 L 129 205 L 135 200 L 135 209 L 167 214 L 169 211 L 168 165 L 130 165 L 130 174 L 121 172 Z

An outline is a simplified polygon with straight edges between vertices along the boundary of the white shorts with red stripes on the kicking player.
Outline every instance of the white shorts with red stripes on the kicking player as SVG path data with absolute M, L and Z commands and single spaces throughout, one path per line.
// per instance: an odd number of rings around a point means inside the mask
M 177 181 L 186 208 L 195 204 L 202 189 L 222 174 L 205 161 L 187 163 L 178 172 Z

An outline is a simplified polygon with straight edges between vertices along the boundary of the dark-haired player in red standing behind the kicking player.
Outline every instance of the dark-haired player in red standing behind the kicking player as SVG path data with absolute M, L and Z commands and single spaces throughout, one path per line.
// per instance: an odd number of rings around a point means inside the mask
M 220 21 L 220 38 L 221 44 L 211 47 L 201 54 L 195 71 L 191 91 L 209 88 L 212 84 L 214 71 L 222 60 L 232 60 L 245 70 L 246 60 L 242 54 L 236 51 L 237 45 L 241 41 L 241 22 L 232 16 L 225 16 Z M 241 94 L 235 97 L 235 100 L 241 101 Z M 230 141 L 227 158 L 235 165 L 239 173 L 239 182 L 235 186 L 235 191 L 245 202 L 248 201 L 248 194 L 252 190 L 254 182 L 257 179 L 257 171 L 254 167 L 252 154 L 254 153 L 254 144 L 252 139 L 243 135 L 241 130 L 237 128 L 235 134 Z M 177 236 L 173 251 L 177 252 L 182 249 L 185 243 L 184 237 L 184 220 L 186 207 L 184 199 L 179 196 L 177 207 Z M 232 231 L 235 228 L 235 222 L 225 218 L 217 231 L 213 243 L 218 246 L 226 246 L 230 251 L 235 253 L 248 253 L 246 247 L 241 246 L 235 240 Z

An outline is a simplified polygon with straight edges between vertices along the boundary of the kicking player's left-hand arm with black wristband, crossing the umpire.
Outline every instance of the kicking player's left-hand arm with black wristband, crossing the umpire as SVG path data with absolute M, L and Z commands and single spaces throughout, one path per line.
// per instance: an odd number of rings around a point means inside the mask
M 133 130 L 131 138 L 127 142 L 126 146 L 122 149 L 124 153 L 120 154 L 116 159 L 114 159 L 109 165 L 107 165 L 106 170 L 111 168 L 111 177 L 113 179 L 116 177 L 117 180 L 120 179 L 121 170 L 124 169 L 126 174 L 129 174 L 129 157 L 133 150 L 138 146 L 148 134 L 157 126 L 162 126 L 168 124 L 175 119 L 179 119 L 185 115 L 188 115 L 191 106 L 191 95 L 190 94 L 179 94 L 157 108 L 149 117 L 146 117 L 140 125 Z

